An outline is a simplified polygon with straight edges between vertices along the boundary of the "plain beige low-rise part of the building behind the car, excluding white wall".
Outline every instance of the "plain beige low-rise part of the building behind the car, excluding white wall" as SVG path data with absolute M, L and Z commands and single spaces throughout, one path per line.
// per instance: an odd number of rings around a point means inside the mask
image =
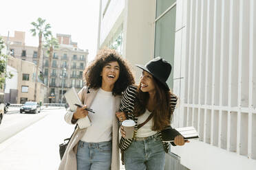
M 25 101 L 34 101 L 34 86 L 36 64 L 24 61 L 18 58 L 8 58 L 8 66 L 17 70 L 17 103 L 24 104 Z M 11 86 L 11 84 L 6 84 Z M 12 89 L 10 89 L 11 91 Z M 36 101 L 40 102 L 46 97 L 47 87 L 39 78 L 39 85 L 37 86 Z

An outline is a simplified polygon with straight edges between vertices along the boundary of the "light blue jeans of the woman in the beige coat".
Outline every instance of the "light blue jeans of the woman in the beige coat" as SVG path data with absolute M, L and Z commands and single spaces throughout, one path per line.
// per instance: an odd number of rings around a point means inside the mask
M 112 142 L 86 143 L 79 141 L 76 154 L 77 170 L 109 170 Z

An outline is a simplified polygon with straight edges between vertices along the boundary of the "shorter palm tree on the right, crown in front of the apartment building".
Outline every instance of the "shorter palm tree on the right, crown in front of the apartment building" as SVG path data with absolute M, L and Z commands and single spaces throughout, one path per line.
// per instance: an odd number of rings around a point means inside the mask
M 51 35 L 51 38 L 46 38 L 46 43 L 44 45 L 47 48 L 47 53 L 49 54 L 49 69 L 47 78 L 47 97 L 50 95 L 50 73 L 52 69 L 52 57 L 55 48 L 58 48 L 58 40 Z

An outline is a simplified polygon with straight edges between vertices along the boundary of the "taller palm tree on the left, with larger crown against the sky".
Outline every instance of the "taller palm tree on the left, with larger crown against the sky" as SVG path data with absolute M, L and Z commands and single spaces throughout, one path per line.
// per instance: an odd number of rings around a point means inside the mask
M 50 32 L 50 24 L 45 23 L 45 19 L 38 18 L 36 22 L 31 23 L 34 28 L 30 29 L 32 32 L 32 36 L 39 36 L 39 48 L 37 49 L 37 60 L 36 60 L 36 80 L 34 86 L 34 101 L 36 101 L 36 90 L 37 90 L 37 82 L 38 82 L 38 73 L 39 73 L 39 66 L 40 66 L 40 58 L 41 58 L 41 49 L 42 49 L 42 42 L 45 38 L 52 35 Z

